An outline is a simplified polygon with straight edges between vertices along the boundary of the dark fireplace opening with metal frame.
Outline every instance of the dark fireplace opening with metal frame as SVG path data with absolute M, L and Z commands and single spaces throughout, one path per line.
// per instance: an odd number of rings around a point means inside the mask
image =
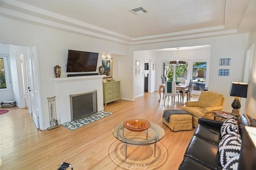
M 97 90 L 82 94 L 70 94 L 71 121 L 96 113 Z

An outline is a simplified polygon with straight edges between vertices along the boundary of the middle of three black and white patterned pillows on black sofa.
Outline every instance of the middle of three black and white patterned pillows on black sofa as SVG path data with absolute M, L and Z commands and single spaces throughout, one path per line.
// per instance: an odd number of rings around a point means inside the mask
M 220 164 L 224 167 L 234 156 L 239 156 L 241 149 L 241 136 L 238 130 L 225 135 L 219 143 Z

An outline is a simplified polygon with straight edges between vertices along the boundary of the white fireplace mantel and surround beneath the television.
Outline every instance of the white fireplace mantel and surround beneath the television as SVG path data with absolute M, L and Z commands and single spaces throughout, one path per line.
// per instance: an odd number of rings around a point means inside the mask
M 51 78 L 56 88 L 56 115 L 60 124 L 71 121 L 70 95 L 97 90 L 97 110 L 104 109 L 102 78 L 106 75 Z

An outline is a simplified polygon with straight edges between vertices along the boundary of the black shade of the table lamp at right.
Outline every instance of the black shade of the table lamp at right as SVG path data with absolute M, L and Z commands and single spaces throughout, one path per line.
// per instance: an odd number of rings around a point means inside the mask
M 240 98 L 247 98 L 248 84 L 240 82 L 231 82 L 229 95 Z

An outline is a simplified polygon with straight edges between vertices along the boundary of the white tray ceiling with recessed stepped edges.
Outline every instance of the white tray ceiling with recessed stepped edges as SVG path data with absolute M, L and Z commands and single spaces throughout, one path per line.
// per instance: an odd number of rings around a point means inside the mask
M 142 6 L 148 12 L 127 11 Z M 255 0 L 0 0 L 0 16 L 127 45 L 247 33 Z

